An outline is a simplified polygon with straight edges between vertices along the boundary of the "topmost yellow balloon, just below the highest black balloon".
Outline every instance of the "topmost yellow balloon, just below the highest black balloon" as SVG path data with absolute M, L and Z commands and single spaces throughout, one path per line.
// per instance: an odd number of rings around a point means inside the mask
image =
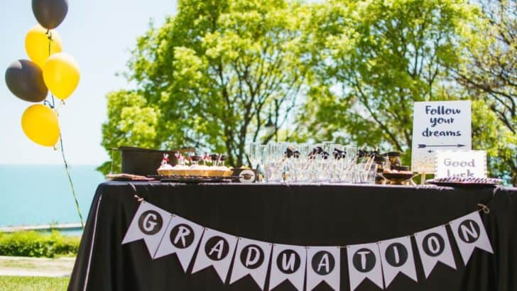
M 47 30 L 41 26 L 34 26 L 28 31 L 25 37 L 25 50 L 27 55 L 33 62 L 40 67 L 43 67 L 45 60 L 50 55 L 60 53 L 62 51 L 62 43 L 59 33 L 51 30 L 52 40 L 48 39 Z M 48 44 L 50 41 L 50 55 L 48 53 Z

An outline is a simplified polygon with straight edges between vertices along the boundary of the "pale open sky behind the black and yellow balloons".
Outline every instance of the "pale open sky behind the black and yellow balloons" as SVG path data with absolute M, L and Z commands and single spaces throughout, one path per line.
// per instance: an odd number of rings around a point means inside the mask
M 176 11 L 175 0 L 70 0 L 65 21 L 56 28 L 63 52 L 80 66 L 80 84 L 60 109 L 60 126 L 70 164 L 99 165 L 108 159 L 101 143 L 106 120 L 107 92 L 129 87 L 123 72 L 136 38 Z M 4 72 L 11 62 L 28 59 L 24 40 L 36 25 L 30 0 L 2 0 L 0 4 L 0 164 L 60 164 L 60 153 L 37 146 L 21 130 L 26 101 L 6 87 Z

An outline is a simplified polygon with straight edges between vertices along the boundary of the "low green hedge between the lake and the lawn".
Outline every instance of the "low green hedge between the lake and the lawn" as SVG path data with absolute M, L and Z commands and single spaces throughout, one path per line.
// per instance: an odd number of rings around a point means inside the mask
M 0 233 L 0 256 L 75 256 L 79 243 L 80 238 L 63 236 L 58 231 L 52 231 L 50 234 L 40 234 L 36 231 Z

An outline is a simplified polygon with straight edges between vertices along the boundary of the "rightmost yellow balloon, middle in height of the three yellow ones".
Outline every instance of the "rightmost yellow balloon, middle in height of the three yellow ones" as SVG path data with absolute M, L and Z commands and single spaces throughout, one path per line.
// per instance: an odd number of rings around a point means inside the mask
M 59 99 L 67 99 L 79 84 L 79 66 L 65 53 L 51 55 L 43 65 L 43 80 L 50 92 Z

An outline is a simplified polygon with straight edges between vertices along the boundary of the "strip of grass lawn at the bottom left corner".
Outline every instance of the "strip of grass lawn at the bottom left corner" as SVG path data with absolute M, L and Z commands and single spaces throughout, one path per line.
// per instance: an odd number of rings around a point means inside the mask
M 0 276 L 2 291 L 60 291 L 66 290 L 70 278 Z

